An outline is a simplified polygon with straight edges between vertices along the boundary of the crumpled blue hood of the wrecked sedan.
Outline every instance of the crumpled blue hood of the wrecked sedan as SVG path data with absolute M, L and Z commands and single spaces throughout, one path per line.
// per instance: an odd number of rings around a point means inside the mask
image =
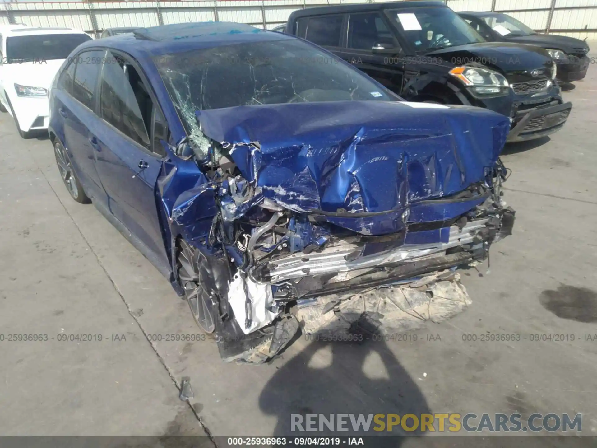
M 486 109 L 377 101 L 240 106 L 198 119 L 205 135 L 232 145 L 242 176 L 266 198 L 357 215 L 397 213 L 484 181 L 510 128 Z

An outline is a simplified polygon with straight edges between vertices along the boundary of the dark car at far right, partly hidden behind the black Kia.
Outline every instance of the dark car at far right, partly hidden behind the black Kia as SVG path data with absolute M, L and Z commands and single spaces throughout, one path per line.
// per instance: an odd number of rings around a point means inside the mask
M 488 42 L 515 42 L 545 48 L 558 66 L 559 81 L 583 79 L 589 67 L 589 45 L 580 39 L 535 32 L 503 13 L 458 13 Z

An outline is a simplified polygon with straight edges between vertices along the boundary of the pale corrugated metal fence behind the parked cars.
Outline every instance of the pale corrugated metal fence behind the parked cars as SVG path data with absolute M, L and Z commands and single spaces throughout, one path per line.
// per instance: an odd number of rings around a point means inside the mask
M 376 0 L 373 0 L 376 1 Z M 90 34 L 116 26 L 155 26 L 181 22 L 250 23 L 272 29 L 290 13 L 362 0 L 177 0 L 116 2 L 0 2 L 0 24 L 66 26 Z M 597 0 L 447 0 L 454 11 L 503 11 L 537 31 L 597 39 Z

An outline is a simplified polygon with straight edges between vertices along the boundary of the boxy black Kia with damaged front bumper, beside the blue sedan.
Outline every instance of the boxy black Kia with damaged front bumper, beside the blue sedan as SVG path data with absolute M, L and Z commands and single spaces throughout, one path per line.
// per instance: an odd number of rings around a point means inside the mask
M 326 48 L 408 101 L 509 116 L 509 142 L 559 130 L 572 109 L 543 48 L 486 42 L 439 1 L 307 8 L 290 15 L 285 32 Z

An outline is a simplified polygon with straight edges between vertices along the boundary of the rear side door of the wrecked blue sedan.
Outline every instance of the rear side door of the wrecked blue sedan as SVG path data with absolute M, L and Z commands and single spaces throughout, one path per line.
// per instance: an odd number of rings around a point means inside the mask
M 96 171 L 95 148 L 90 128 L 97 125 L 96 101 L 101 60 L 105 50 L 83 51 L 73 57 L 60 75 L 54 110 L 63 123 L 64 146 L 71 155 L 85 193 L 105 202 L 106 195 Z

